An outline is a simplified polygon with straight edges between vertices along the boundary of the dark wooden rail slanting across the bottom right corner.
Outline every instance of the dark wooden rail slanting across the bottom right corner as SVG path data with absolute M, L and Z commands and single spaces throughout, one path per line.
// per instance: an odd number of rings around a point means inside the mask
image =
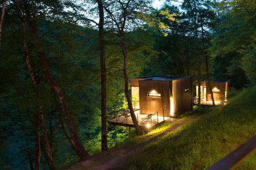
M 242 144 L 239 148 L 228 154 L 226 157 L 219 160 L 217 163 L 208 168 L 208 170 L 217 169 L 234 169 L 238 166 L 246 157 L 256 151 L 256 135 Z

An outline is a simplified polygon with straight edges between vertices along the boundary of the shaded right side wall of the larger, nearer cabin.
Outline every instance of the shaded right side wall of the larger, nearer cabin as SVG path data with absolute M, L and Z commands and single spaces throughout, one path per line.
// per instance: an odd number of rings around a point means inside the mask
M 174 99 L 174 115 L 180 115 L 193 109 L 193 78 L 183 78 L 172 81 Z M 185 89 L 189 92 L 185 93 Z

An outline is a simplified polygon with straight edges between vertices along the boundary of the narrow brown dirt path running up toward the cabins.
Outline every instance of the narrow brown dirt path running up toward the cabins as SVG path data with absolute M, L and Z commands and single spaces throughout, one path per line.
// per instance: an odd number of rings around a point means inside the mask
M 71 167 L 66 168 L 66 170 L 87 170 L 87 169 L 104 170 L 109 168 L 117 168 L 117 167 L 125 166 L 127 165 L 127 163 L 129 163 L 129 161 L 127 160 L 130 160 L 136 152 L 143 149 L 143 145 L 157 141 L 160 137 L 163 137 L 165 134 L 176 130 L 178 127 L 182 125 L 192 122 L 197 117 L 198 116 L 193 116 L 183 121 L 178 120 L 174 126 L 170 127 L 169 129 L 167 129 L 163 133 L 160 133 L 154 138 L 147 140 L 145 143 L 136 146 L 133 149 L 130 149 L 130 150 L 123 149 L 123 150 L 110 151 L 110 152 L 106 151 L 106 152 L 100 153 L 99 155 L 95 155 L 86 161 L 78 162 L 72 165 Z

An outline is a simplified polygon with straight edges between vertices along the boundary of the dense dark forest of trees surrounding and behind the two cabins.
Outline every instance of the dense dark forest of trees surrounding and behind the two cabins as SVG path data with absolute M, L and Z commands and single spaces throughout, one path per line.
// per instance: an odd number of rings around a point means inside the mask
M 144 134 L 130 78 L 230 80 L 230 95 L 256 82 L 255 0 L 0 2 L 1 169 L 59 169 Z M 117 107 L 135 128 L 107 123 Z

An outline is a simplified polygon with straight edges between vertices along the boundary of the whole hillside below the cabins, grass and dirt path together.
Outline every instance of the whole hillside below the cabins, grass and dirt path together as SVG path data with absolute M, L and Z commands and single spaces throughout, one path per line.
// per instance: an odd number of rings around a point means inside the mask
M 256 134 L 255 94 L 256 86 L 225 106 L 196 109 L 68 169 L 208 168 Z M 255 158 L 249 156 L 237 169 L 254 169 Z

